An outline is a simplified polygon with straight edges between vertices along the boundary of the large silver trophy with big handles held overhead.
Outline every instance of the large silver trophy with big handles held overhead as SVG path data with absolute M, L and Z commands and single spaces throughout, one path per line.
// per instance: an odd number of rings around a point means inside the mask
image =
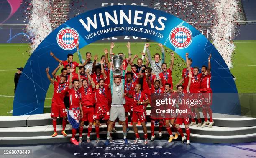
M 125 59 L 125 55 L 110 55 L 110 58 L 113 62 L 113 74 L 114 75 L 121 75 L 122 74 L 122 66 L 123 66 L 123 59 Z

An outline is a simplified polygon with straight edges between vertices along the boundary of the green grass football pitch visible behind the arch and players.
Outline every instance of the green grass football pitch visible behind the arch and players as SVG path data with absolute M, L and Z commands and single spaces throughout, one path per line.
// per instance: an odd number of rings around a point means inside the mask
M 236 76 L 238 93 L 256 93 L 256 40 L 237 40 L 234 43 L 236 45 L 236 50 L 233 53 L 234 68 L 231 69 L 231 73 Z M 141 56 L 140 53 L 143 50 L 144 44 L 144 42 L 131 43 L 131 53 L 133 55 L 137 54 Z M 85 58 L 86 52 L 91 52 L 92 60 L 93 56 L 97 54 L 99 58 L 97 61 L 100 61 L 100 57 L 104 55 L 103 48 L 108 48 L 109 50 L 110 43 L 92 43 L 82 48 L 80 52 L 83 58 Z M 17 71 L 16 68 L 24 67 L 26 64 L 26 61 L 29 58 L 28 50 L 28 44 L 0 44 L 0 55 L 2 58 L 2 62 L 0 64 L 0 107 L 2 108 L 0 116 L 12 115 L 7 112 L 13 108 L 15 87 L 14 75 Z M 159 49 L 159 46 L 155 42 L 151 42 L 150 50 L 152 57 L 154 53 L 161 54 L 161 49 Z M 51 50 L 49 50 L 49 52 L 50 51 Z M 171 50 L 166 48 L 166 51 L 166 63 L 169 64 L 171 56 L 169 52 Z M 115 43 L 113 53 L 117 54 L 119 52 L 125 53 L 125 55 L 128 56 L 126 43 Z M 181 78 L 182 69 L 185 67 L 185 63 L 177 54 L 175 54 L 174 57 L 175 60 L 172 78 L 174 84 L 176 84 Z M 52 57 L 49 55 L 49 58 Z M 74 61 L 79 62 L 77 53 L 74 54 Z M 136 62 L 136 60 L 134 62 Z M 44 113 L 49 113 L 52 95 L 53 86 L 50 85 L 44 103 Z

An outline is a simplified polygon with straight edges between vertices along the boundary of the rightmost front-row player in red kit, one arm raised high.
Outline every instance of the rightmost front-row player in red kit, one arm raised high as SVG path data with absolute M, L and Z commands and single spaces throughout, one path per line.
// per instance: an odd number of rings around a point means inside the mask
M 191 83 L 192 73 L 190 73 L 188 75 L 188 77 L 189 77 L 189 82 L 188 82 L 188 85 L 187 85 L 187 89 L 184 89 L 183 85 L 178 85 L 177 86 L 178 93 L 177 93 L 176 100 L 178 100 L 179 111 L 182 111 L 182 112 L 180 112 L 177 115 L 177 118 L 176 118 L 176 121 L 175 121 L 175 128 L 177 129 L 179 134 L 182 136 L 182 143 L 187 138 L 187 145 L 190 145 L 190 129 L 189 129 L 190 108 L 189 108 L 189 105 L 186 102 L 187 102 L 187 100 L 189 100 L 189 95 L 187 94 L 187 92 L 189 92 L 189 86 L 190 86 L 190 83 Z M 187 137 L 183 134 L 182 129 L 179 127 L 183 123 L 185 124 L 185 130 L 186 130 Z

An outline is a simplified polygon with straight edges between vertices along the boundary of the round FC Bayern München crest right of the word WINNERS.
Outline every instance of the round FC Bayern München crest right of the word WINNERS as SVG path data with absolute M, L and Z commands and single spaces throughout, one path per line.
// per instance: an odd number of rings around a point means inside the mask
M 175 48 L 187 48 L 192 42 L 192 33 L 185 26 L 178 26 L 170 32 L 169 40 Z

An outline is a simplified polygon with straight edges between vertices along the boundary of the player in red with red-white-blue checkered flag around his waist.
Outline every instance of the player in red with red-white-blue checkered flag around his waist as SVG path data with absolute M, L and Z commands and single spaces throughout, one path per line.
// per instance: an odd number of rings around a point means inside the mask
M 71 68 L 70 73 L 73 73 L 75 69 Z M 81 96 L 79 93 L 79 80 L 72 80 L 72 75 L 69 75 L 69 112 L 68 120 L 72 125 L 72 137 L 70 139 L 71 143 L 74 145 L 79 145 L 78 141 L 75 139 L 77 129 L 79 128 L 80 118 L 83 118 L 83 109 L 81 105 Z

